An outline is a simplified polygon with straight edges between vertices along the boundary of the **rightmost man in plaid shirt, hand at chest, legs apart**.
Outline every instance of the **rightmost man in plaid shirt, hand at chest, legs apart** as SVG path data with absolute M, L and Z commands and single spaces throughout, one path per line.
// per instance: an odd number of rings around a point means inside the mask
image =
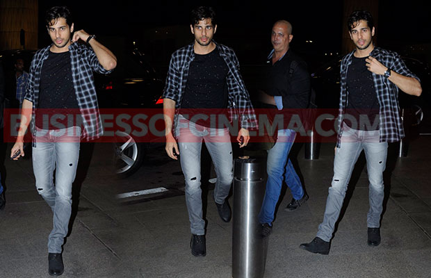
M 368 245 L 380 244 L 380 217 L 384 198 L 383 171 L 388 142 L 404 137 L 398 106 L 398 89 L 421 95 L 421 83 L 395 52 L 375 47 L 373 17 L 364 10 L 348 18 L 350 38 L 356 49 L 341 61 L 339 136 L 334 157 L 334 177 L 323 222 L 316 238 L 304 250 L 329 254 L 334 224 L 339 218 L 350 174 L 362 149 L 366 156 L 370 208 Z

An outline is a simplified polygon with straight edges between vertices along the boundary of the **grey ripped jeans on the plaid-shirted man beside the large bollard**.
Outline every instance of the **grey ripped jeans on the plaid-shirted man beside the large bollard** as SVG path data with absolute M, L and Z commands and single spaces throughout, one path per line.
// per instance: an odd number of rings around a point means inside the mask
M 213 160 L 217 181 L 214 188 L 214 201 L 223 204 L 234 179 L 232 145 L 228 129 L 211 129 L 186 120 L 179 115 L 177 139 L 181 169 L 186 182 L 186 205 L 190 231 L 192 234 L 205 234 L 205 221 L 202 218 L 202 190 L 200 155 L 202 140 L 205 141 Z

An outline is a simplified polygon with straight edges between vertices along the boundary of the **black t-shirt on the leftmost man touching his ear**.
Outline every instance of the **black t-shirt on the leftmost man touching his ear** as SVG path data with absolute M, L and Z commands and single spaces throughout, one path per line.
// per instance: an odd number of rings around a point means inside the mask
M 76 116 L 79 105 L 72 80 L 72 64 L 69 51 L 54 53 L 49 51 L 40 72 L 39 103 L 36 110 L 36 126 L 40 129 L 58 129 L 49 125 L 52 115 L 64 115 L 67 120 L 64 127 L 77 125 Z M 62 116 L 63 117 L 63 116 Z M 79 118 L 79 117 L 78 117 Z M 73 121 L 71 121 L 73 119 Z M 60 122 L 57 120 L 56 122 Z

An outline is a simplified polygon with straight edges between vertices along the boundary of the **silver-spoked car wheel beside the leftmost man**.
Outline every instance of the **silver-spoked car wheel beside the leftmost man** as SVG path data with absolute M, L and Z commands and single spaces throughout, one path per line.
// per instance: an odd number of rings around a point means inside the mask
M 139 169 L 145 156 L 145 147 L 129 134 L 117 131 L 114 143 L 114 169 L 118 177 L 129 177 Z

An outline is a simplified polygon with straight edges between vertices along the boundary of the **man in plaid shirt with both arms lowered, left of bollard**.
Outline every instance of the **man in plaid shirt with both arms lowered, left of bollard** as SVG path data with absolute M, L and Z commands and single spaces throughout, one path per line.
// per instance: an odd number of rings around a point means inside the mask
M 217 29 L 213 9 L 196 8 L 192 11 L 190 23 L 195 41 L 172 54 L 163 92 L 165 150 L 170 158 L 177 160 L 180 156 L 186 181 L 191 252 L 194 256 L 205 256 L 205 221 L 202 219 L 200 188 L 202 140 L 215 166 L 217 182 L 213 197 L 220 218 L 225 222 L 231 219 L 227 195 L 233 180 L 232 147 L 227 128 L 213 126 L 193 115 L 196 112 L 207 115 L 209 111 L 220 115 L 218 111 L 222 113 L 226 108 L 236 111 L 241 117 L 241 129 L 236 138 L 240 147 L 246 146 L 250 140 L 247 129 L 256 126 L 256 117 L 234 51 L 213 41 Z

